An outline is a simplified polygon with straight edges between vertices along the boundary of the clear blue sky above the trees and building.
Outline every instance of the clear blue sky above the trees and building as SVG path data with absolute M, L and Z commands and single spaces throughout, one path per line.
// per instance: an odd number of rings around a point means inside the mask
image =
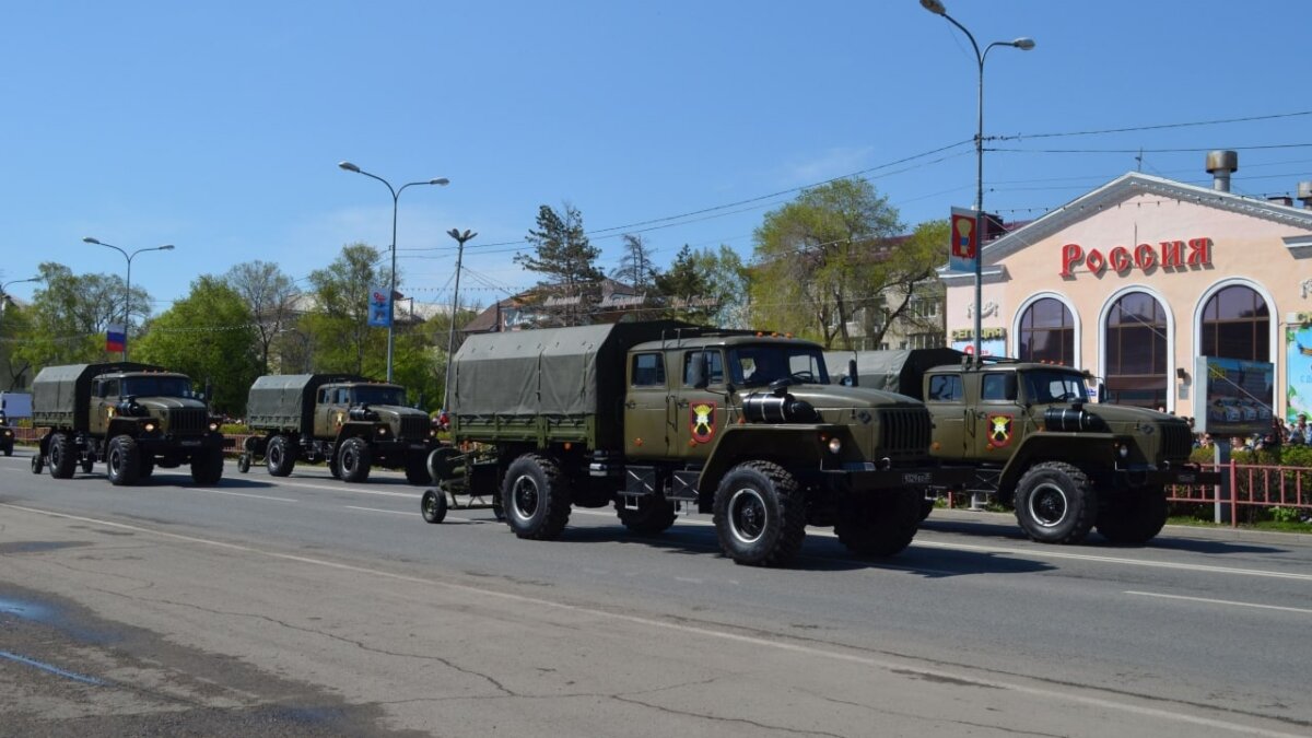
M 1038 43 L 989 53 L 987 135 L 1312 110 L 1312 3 L 945 3 L 981 46 Z M 121 274 L 88 235 L 172 243 L 133 263 L 156 311 L 241 261 L 304 277 L 344 244 L 386 250 L 391 197 L 344 159 L 451 180 L 400 198 L 420 302 L 450 299 L 451 227 L 479 232 L 462 297 L 533 284 L 510 259 L 543 204 L 579 207 L 609 269 L 618 234 L 698 211 L 643 232 L 660 264 L 685 243 L 749 257 L 765 211 L 854 172 L 908 227 L 975 194 L 975 56 L 917 0 L 10 3 L 0 70 L 0 278 Z M 1143 171 L 1193 183 L 1204 150 L 1237 148 L 1248 194 L 1312 179 L 1305 114 L 989 146 L 1026 150 L 985 155 L 1008 219 L 1135 169 L 1140 147 Z

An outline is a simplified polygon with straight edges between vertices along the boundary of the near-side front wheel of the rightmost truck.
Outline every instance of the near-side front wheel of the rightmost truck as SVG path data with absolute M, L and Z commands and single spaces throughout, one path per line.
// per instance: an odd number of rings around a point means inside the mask
M 1015 486 L 1015 520 L 1040 544 L 1078 544 L 1097 513 L 1098 494 L 1077 466 L 1035 464 Z

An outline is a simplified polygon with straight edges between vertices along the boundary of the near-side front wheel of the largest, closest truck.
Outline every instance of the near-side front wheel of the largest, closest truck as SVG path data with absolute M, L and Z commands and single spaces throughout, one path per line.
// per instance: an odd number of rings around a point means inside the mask
M 715 490 L 715 532 L 733 563 L 783 566 L 807 536 L 806 499 L 796 479 L 769 461 L 729 470 Z

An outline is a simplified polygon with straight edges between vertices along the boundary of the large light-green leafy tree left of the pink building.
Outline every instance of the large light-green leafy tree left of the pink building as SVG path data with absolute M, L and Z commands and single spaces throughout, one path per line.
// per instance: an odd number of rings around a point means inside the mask
M 938 252 L 895 239 L 903 228 L 897 209 L 861 179 L 827 183 L 768 213 L 754 232 L 757 323 L 851 348 L 854 316 L 878 310 L 887 290 L 909 294 L 933 277 Z

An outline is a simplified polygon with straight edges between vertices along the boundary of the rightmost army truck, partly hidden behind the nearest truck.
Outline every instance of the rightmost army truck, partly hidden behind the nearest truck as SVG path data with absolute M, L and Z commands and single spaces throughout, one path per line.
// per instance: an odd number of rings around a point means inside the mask
M 947 348 L 857 352 L 854 365 L 858 386 L 924 399 L 933 454 L 974 471 L 956 488 L 1014 508 L 1035 541 L 1075 544 L 1097 527 L 1113 542 L 1140 545 L 1166 523 L 1166 485 L 1220 482 L 1189 464 L 1185 419 L 1090 403 L 1090 377 L 1069 366 L 974 361 Z M 850 383 L 850 373 L 838 381 Z

